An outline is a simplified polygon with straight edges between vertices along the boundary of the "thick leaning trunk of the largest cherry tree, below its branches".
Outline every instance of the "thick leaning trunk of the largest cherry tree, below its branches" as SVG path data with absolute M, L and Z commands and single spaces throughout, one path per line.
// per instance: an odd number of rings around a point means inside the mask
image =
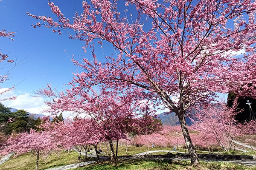
M 185 120 L 185 116 L 183 113 L 178 114 L 179 120 L 180 120 L 180 126 L 181 126 L 181 130 L 186 142 L 186 147 L 189 150 L 189 156 L 190 156 L 190 160 L 191 160 L 191 164 L 199 164 L 198 161 L 198 156 L 195 150 L 195 147 L 192 144 L 191 138 L 189 136 L 189 130 L 186 126 L 186 120 Z

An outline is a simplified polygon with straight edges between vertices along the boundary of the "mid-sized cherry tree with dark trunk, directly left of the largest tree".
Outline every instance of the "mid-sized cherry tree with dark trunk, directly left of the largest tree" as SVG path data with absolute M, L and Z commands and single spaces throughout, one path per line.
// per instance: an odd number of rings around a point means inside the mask
M 126 134 L 132 129 L 131 127 L 137 127 L 137 121 L 134 120 L 145 111 L 147 105 L 135 102 L 136 96 L 132 94 L 122 95 L 117 91 L 109 91 L 104 88 L 100 92 L 96 92 L 92 88 L 86 88 L 80 78 L 82 75 L 77 74 L 76 76 L 70 82 L 71 88 L 67 89 L 65 93 L 55 93 L 49 85 L 38 93 L 51 98 L 50 102 L 46 102 L 51 111 L 72 111 L 79 116 L 90 118 L 90 121 L 93 121 L 93 134 L 102 136 L 98 142 L 102 140 L 109 142 L 111 161 L 115 165 L 116 156 L 113 140 L 126 138 Z M 150 114 L 150 110 L 147 114 Z M 82 127 L 83 124 L 80 125 L 79 128 L 84 128 Z M 86 125 L 84 126 L 86 127 Z M 73 130 L 77 130 L 77 128 Z M 72 132 L 70 131 L 70 133 Z M 96 145 L 94 146 L 96 147 Z

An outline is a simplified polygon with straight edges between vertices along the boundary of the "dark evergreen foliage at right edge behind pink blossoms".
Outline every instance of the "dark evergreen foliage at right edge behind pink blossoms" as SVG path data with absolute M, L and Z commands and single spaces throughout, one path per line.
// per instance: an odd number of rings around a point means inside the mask
M 230 92 L 227 96 L 227 105 L 229 107 L 233 106 L 233 102 L 234 99 L 236 99 L 236 94 L 234 92 Z M 251 108 L 252 108 L 252 112 L 250 114 L 250 109 L 249 109 L 249 105 L 247 105 L 247 100 L 249 100 L 249 102 L 251 103 Z M 250 121 L 252 119 L 255 119 L 255 113 L 256 113 L 256 99 L 250 98 L 250 97 L 245 97 L 245 98 L 238 98 L 237 100 L 237 108 L 236 108 L 236 112 L 238 112 L 236 114 L 235 119 L 239 122 L 245 122 L 245 121 Z

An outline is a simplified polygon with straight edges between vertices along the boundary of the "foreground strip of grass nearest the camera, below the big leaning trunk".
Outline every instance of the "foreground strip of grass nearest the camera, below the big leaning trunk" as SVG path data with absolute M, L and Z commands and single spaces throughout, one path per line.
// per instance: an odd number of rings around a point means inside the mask
M 74 170 L 256 170 L 256 167 L 246 167 L 226 162 L 201 161 L 201 164 L 191 166 L 190 161 L 122 159 L 118 160 L 116 166 L 112 166 L 110 161 L 105 161 Z

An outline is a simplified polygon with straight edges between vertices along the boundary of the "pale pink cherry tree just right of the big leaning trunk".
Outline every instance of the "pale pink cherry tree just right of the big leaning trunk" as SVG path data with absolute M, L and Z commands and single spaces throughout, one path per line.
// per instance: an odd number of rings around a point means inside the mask
M 213 138 L 225 152 L 229 152 L 235 148 L 235 137 L 242 133 L 242 126 L 235 120 L 235 115 L 236 105 L 229 108 L 225 103 L 214 103 L 207 108 L 198 109 L 194 126 L 204 134 L 206 142 Z

